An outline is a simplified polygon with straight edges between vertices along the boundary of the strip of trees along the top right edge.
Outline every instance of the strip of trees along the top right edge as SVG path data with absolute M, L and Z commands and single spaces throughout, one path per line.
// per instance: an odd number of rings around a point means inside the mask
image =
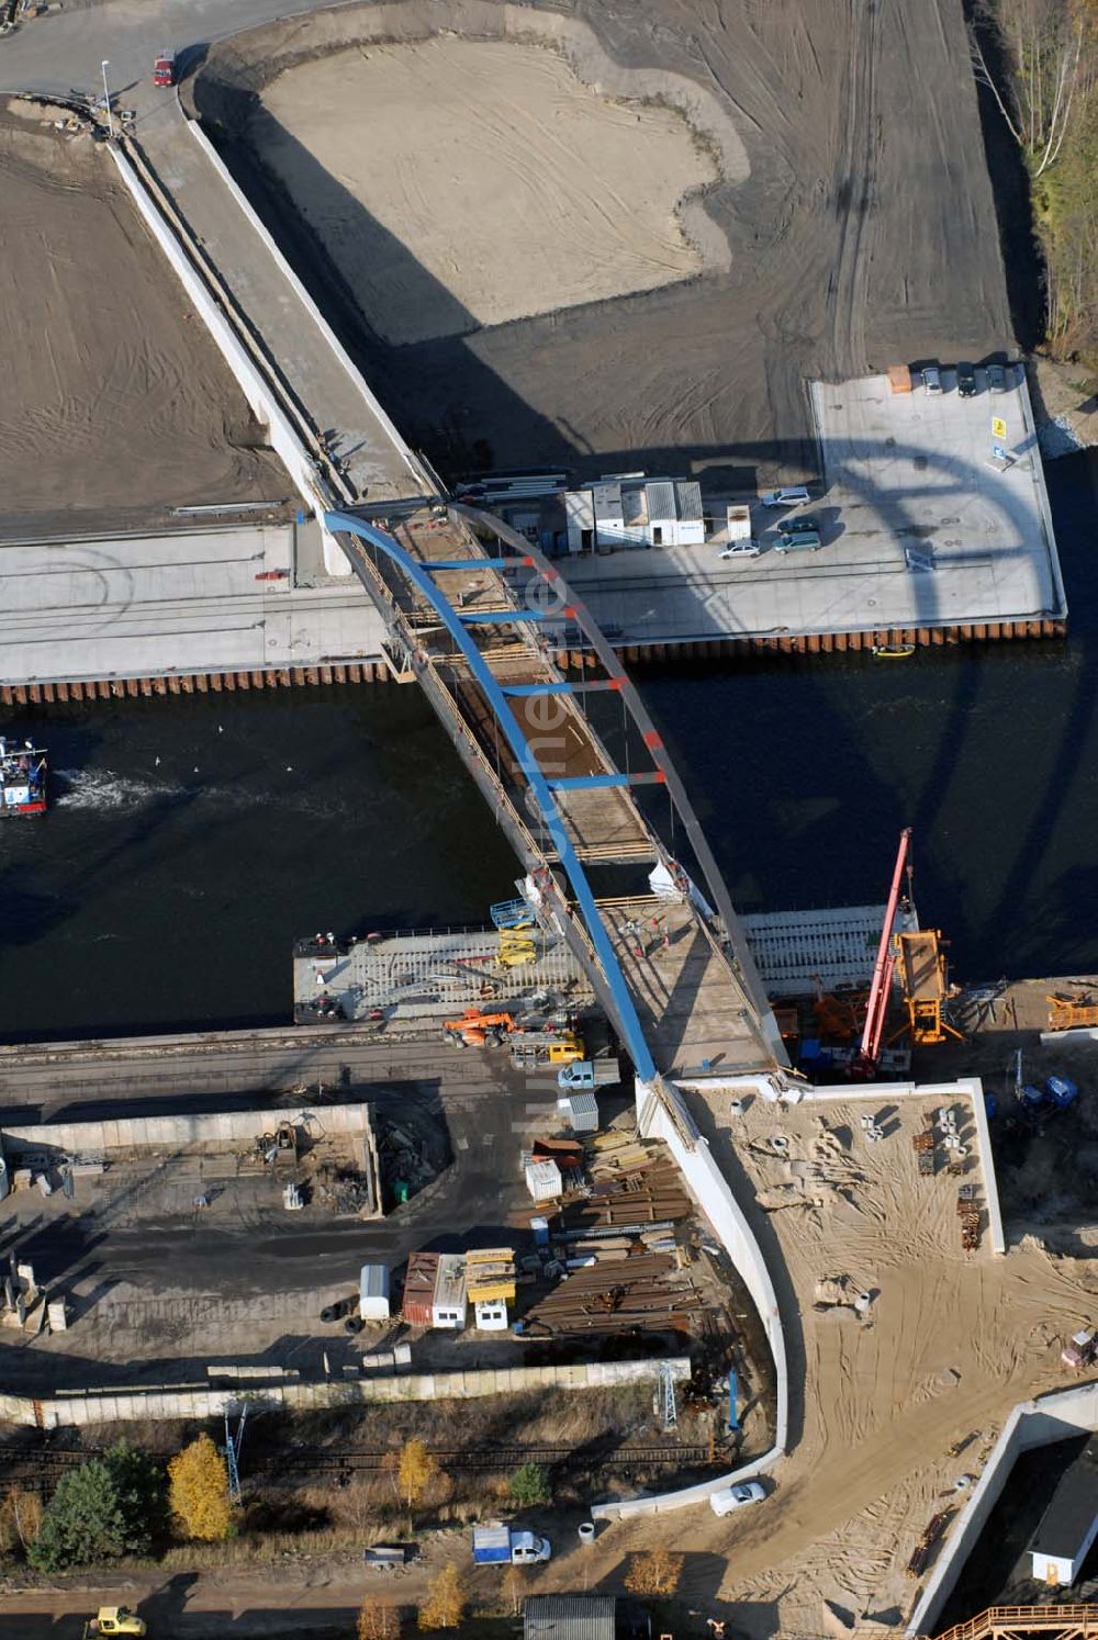
M 1098 364 L 1098 0 L 975 0 L 977 77 L 1031 177 L 1049 341 Z

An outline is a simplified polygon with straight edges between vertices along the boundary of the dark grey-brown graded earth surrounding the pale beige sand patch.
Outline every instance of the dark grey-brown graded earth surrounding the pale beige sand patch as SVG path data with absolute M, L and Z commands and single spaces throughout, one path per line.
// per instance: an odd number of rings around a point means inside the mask
M 1009 346 L 957 0 L 620 8 L 576 0 L 568 10 L 494 0 L 345 8 L 212 48 L 195 84 L 199 108 L 223 125 L 230 161 L 405 435 L 435 461 L 450 471 L 565 462 L 586 472 L 693 462 L 768 477 L 809 459 L 806 377 L 865 376 L 927 356 L 978 359 Z M 727 180 L 706 194 L 701 215 L 725 239 L 727 269 L 617 300 L 592 290 L 586 305 L 469 336 L 407 348 L 371 338 L 346 279 L 323 266 L 284 194 L 263 192 L 268 156 L 246 141 L 251 97 L 325 49 L 445 30 L 479 39 L 527 39 L 537 30 L 588 82 L 604 82 L 609 61 L 620 75 L 643 77 L 645 95 L 666 84 L 722 156 Z M 706 108 L 689 103 L 684 84 Z M 617 80 L 614 92 L 622 95 Z M 502 118 L 506 82 L 491 107 Z M 714 107 L 735 130 L 739 167 Z M 369 102 L 348 100 L 341 116 L 341 143 L 358 139 L 369 164 L 377 133 Z M 419 113 L 404 138 L 409 154 Z M 524 162 L 515 153 L 515 169 Z M 635 175 L 634 210 L 647 194 L 643 161 Z M 583 180 L 573 175 L 570 192 L 579 195 Z M 479 259 L 476 238 L 471 221 L 450 248 L 455 261 Z

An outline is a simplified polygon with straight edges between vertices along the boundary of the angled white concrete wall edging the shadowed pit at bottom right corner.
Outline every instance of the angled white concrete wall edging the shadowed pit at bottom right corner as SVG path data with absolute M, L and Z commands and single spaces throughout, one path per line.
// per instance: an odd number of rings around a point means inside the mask
M 980 1481 L 960 1512 L 947 1545 L 927 1578 L 919 1604 L 911 1614 L 906 1633 L 926 1635 L 932 1630 L 945 1601 L 954 1592 L 965 1561 L 986 1525 L 1009 1479 L 1019 1453 L 1047 1446 L 1082 1430 L 1098 1430 L 1098 1383 L 1059 1389 L 1036 1401 L 1023 1401 L 1008 1417 L 1003 1433 L 986 1461 Z

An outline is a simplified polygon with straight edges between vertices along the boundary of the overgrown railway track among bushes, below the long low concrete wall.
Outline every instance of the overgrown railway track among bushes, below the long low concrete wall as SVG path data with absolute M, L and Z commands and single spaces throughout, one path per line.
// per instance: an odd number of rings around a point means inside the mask
M 259 1481 L 276 1478 L 312 1479 L 322 1476 L 381 1474 L 396 1461 L 397 1446 L 291 1446 L 263 1458 L 245 1456 L 241 1479 Z M 432 1448 L 443 1469 L 456 1474 L 486 1474 L 499 1469 L 517 1469 L 524 1463 L 542 1463 L 547 1469 L 645 1469 L 645 1468 L 696 1468 L 717 1461 L 709 1446 L 673 1443 L 652 1446 L 609 1446 L 594 1442 L 579 1446 L 486 1446 Z M 8 1446 L 0 1448 L 0 1487 L 11 1484 L 53 1491 L 62 1474 L 95 1458 L 89 1446 Z M 167 1460 L 171 1453 L 159 1453 Z

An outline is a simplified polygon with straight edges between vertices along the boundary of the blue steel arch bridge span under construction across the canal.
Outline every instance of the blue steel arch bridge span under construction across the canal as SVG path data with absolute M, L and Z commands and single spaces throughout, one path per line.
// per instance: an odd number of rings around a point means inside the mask
M 391 502 L 323 523 L 386 623 L 389 664 L 427 694 L 638 1082 L 666 1096 L 676 1079 L 781 1073 L 773 1012 L 683 782 L 560 569 L 471 507 Z

